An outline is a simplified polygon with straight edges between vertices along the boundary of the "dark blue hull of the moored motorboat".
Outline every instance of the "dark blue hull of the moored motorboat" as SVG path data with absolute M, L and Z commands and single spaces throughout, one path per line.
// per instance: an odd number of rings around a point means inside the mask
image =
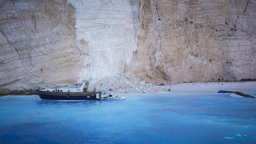
M 84 100 L 100 100 L 96 98 L 97 93 L 88 93 L 88 94 L 77 94 L 72 92 L 44 92 L 37 91 L 37 95 L 42 100 L 59 100 L 59 101 L 84 101 Z M 99 94 L 100 95 L 100 94 Z

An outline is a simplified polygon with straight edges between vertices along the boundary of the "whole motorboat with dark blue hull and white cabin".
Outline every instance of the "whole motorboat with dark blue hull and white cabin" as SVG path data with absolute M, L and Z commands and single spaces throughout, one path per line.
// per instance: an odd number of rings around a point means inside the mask
M 101 91 L 88 91 L 89 81 L 70 84 L 66 88 L 46 88 L 36 90 L 36 94 L 42 100 L 57 101 L 85 101 L 85 100 L 106 100 Z

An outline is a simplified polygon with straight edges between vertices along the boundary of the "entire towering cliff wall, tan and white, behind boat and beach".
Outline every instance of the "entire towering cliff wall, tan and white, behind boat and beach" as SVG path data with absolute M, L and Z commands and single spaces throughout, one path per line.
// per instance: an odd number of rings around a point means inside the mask
M 254 0 L 0 0 L 0 94 L 128 72 L 256 78 Z

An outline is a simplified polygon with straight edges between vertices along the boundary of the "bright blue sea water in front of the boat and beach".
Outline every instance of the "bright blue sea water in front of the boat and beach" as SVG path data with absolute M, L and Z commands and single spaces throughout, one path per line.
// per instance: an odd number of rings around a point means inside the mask
M 256 143 L 256 99 L 123 94 L 124 101 L 0 97 L 0 143 Z

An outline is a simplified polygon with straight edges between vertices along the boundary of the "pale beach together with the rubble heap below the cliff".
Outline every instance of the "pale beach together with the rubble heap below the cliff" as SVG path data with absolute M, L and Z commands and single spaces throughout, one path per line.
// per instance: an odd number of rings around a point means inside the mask
M 196 82 L 155 86 L 145 81 L 131 82 L 127 75 L 111 76 L 90 85 L 89 89 L 113 93 L 216 93 L 219 90 L 256 92 L 256 81 Z M 102 84 L 102 86 L 100 86 Z M 170 91 L 169 91 L 170 89 Z

